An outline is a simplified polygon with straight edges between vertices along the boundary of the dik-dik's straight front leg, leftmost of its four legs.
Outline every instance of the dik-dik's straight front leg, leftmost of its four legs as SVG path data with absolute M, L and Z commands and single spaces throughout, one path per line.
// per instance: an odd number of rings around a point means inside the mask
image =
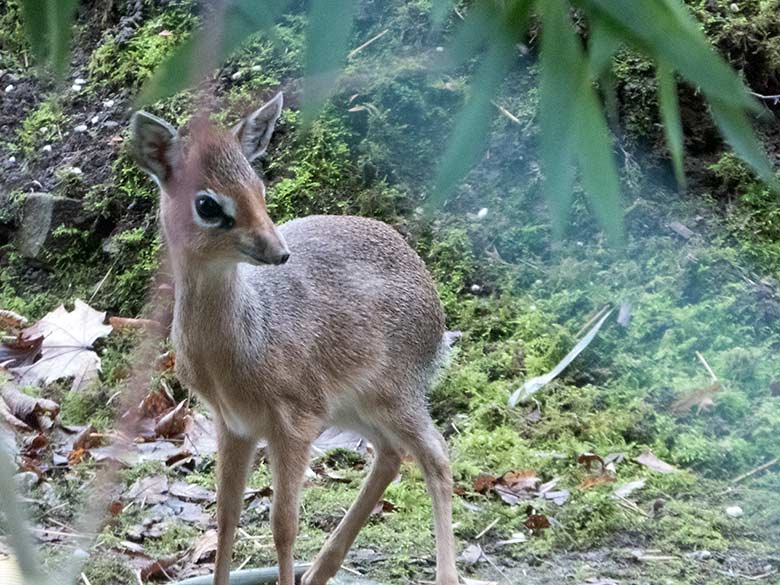
M 256 442 L 238 437 L 224 424 L 218 429 L 217 453 L 217 561 L 214 585 L 228 585 L 233 539 L 244 503 L 244 485 Z

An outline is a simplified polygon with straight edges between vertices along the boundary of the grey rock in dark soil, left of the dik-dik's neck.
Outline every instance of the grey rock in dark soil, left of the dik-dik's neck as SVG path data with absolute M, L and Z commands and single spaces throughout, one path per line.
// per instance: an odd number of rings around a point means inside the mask
M 21 206 L 15 243 L 26 258 L 36 258 L 49 239 L 52 230 L 60 225 L 84 225 L 81 202 L 49 193 L 30 193 Z

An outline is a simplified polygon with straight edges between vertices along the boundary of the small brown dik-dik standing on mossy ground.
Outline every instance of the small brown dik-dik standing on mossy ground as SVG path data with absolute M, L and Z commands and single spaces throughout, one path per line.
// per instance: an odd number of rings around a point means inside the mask
M 265 152 L 281 110 L 278 94 L 232 131 L 204 119 L 176 131 L 145 112 L 131 122 L 134 156 L 161 191 L 176 372 L 217 421 L 214 583 L 228 584 L 247 472 L 266 439 L 279 583 L 293 585 L 309 450 L 337 425 L 365 436 L 374 462 L 302 583 L 321 585 L 338 571 L 408 452 L 433 500 L 436 582 L 456 585 L 452 477 L 426 405 L 447 351 L 436 288 L 417 254 L 378 221 L 273 224 L 250 163 Z

